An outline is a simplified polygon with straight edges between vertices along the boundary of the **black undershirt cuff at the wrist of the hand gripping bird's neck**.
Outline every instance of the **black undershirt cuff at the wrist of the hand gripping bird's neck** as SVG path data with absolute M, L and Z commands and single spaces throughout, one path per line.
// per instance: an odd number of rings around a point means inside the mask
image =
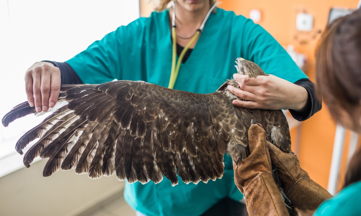
M 309 79 L 301 79 L 295 82 L 295 84 L 302 86 L 307 90 L 308 101 L 301 112 L 290 109 L 290 113 L 295 120 L 305 121 L 322 108 L 322 102 L 316 97 L 315 84 Z

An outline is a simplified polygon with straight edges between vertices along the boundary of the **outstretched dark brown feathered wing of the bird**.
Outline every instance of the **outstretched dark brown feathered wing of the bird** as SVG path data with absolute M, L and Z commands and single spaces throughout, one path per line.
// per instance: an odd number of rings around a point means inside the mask
M 60 108 L 16 144 L 22 154 L 39 138 L 23 162 L 30 167 L 37 156 L 49 158 L 45 177 L 60 168 L 75 168 L 91 178 L 116 172 L 119 180 L 130 183 L 158 183 L 162 174 L 173 185 L 178 183 L 176 174 L 185 183 L 215 180 L 223 175 L 223 154 L 237 122 L 222 113 L 230 110 L 222 98 L 142 81 L 64 85 L 58 104 Z M 6 114 L 3 125 L 31 113 L 36 111 L 27 102 L 19 104 Z

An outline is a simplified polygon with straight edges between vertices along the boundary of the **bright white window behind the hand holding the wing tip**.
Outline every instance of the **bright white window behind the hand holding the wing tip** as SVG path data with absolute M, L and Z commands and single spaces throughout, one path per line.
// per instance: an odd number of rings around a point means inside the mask
M 26 101 L 24 74 L 34 62 L 63 62 L 139 17 L 139 1 L 0 1 L 0 117 Z M 14 146 L 44 117 L 0 126 L 0 177 L 23 167 Z

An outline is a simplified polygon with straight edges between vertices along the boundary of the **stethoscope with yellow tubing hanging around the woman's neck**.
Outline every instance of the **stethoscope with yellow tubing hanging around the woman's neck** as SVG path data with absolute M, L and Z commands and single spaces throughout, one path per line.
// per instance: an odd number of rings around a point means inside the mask
M 177 32 L 175 31 L 176 26 L 175 26 L 175 2 L 174 2 L 174 0 L 172 1 L 172 4 L 173 4 L 173 15 L 172 15 L 172 35 L 171 36 L 172 36 L 172 40 L 173 40 L 173 54 L 172 54 L 172 68 L 171 68 L 171 72 L 170 72 L 169 85 L 168 85 L 169 89 L 173 89 L 175 80 L 177 80 L 179 67 L 181 67 L 183 57 L 186 54 L 189 47 L 193 44 L 193 42 L 197 39 L 197 37 L 200 35 L 201 31 L 203 30 L 204 25 L 207 22 L 210 13 L 213 11 L 213 9 L 217 5 L 217 0 L 214 2 L 213 6 L 209 9 L 201 26 L 199 27 L 199 29 L 197 29 L 197 31 L 193 35 L 192 39 L 188 42 L 188 44 L 182 50 L 181 54 L 179 55 L 177 64 L 175 63 L 175 60 L 177 59 Z M 179 37 L 181 37 L 183 39 L 190 38 L 190 37 L 182 37 L 180 35 L 179 35 Z

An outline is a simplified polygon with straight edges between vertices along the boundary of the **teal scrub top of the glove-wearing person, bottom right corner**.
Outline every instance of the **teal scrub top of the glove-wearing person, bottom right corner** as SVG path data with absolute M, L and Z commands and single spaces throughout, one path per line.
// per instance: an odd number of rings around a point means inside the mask
M 348 185 L 331 199 L 323 202 L 313 216 L 361 215 L 361 181 Z

